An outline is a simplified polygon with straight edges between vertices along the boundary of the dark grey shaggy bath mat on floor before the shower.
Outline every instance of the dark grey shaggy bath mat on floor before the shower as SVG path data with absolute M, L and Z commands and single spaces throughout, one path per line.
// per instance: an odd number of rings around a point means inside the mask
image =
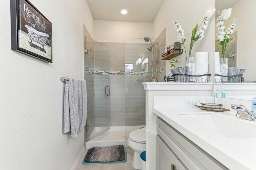
M 127 161 L 126 147 L 94 147 L 87 151 L 82 164 L 112 164 Z

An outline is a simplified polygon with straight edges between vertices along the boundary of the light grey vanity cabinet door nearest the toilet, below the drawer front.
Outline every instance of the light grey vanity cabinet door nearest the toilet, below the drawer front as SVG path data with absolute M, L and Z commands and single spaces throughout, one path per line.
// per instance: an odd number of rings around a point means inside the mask
M 177 164 L 178 158 L 164 141 L 162 141 L 159 135 L 156 136 L 156 156 L 157 170 L 172 170 L 172 164 Z

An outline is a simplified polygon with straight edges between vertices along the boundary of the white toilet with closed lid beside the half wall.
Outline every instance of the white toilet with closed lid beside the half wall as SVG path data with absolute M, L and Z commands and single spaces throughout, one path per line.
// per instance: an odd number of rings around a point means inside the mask
M 146 127 L 132 131 L 129 134 L 127 143 L 134 151 L 132 155 L 132 167 L 141 170 L 140 153 L 146 150 Z

